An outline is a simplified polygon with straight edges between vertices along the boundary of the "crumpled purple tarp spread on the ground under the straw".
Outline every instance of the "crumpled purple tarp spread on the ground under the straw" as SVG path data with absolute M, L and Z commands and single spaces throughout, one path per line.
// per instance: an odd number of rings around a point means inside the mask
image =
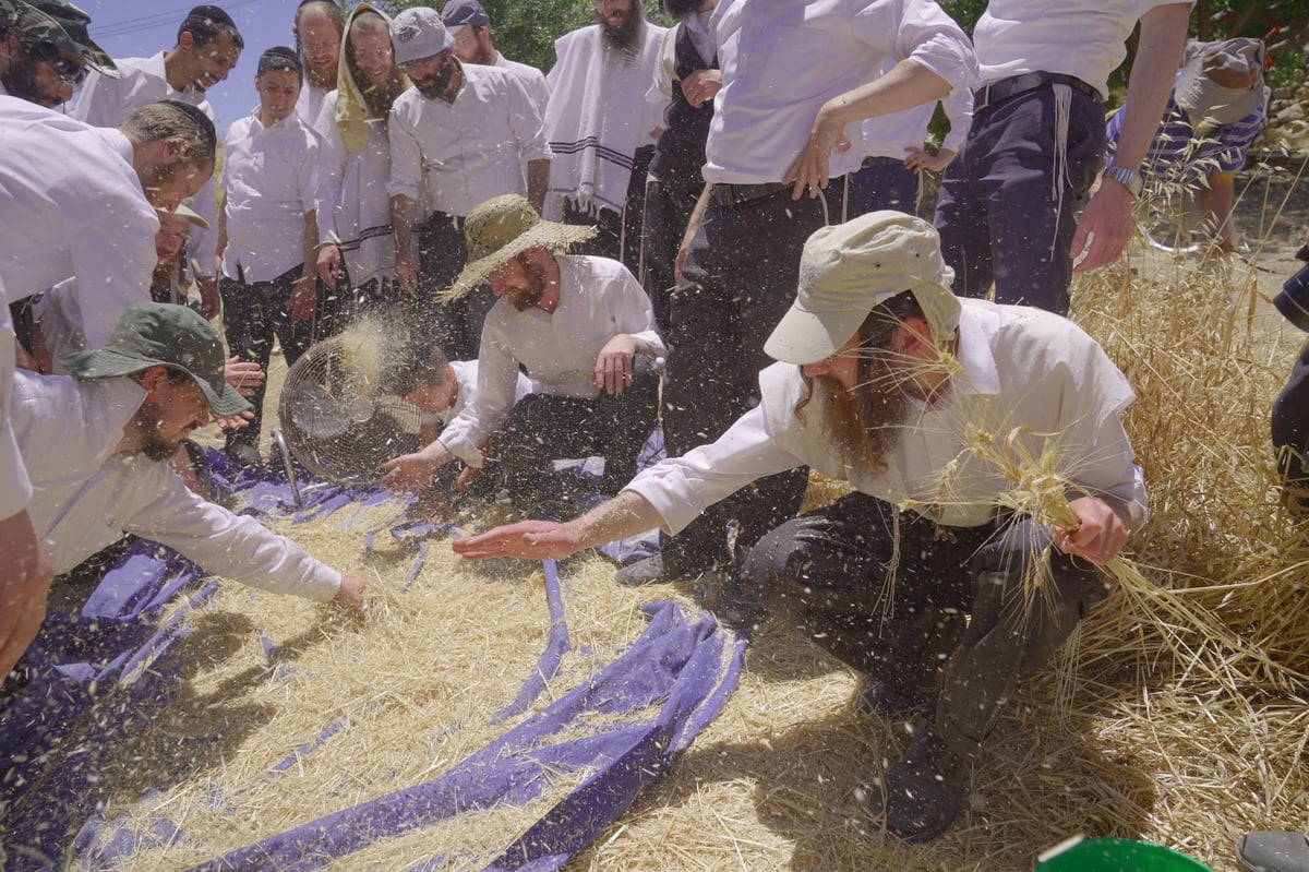
M 292 513 L 291 488 L 284 479 L 224 467 L 215 452 L 209 457 L 220 475 L 225 474 L 216 483 L 240 491 L 250 511 Z M 386 499 L 321 483 L 301 487 L 304 508 L 296 513 L 300 520 L 321 517 L 360 499 Z M 431 532 L 414 524 L 398 524 L 391 530 L 414 542 L 414 575 Z M 68 860 L 84 869 L 110 869 L 136 851 L 186 838 L 161 816 L 154 816 L 141 833 L 123 821 L 105 821 L 96 810 L 96 786 L 110 749 L 130 742 L 178 689 L 178 664 L 161 655 L 187 635 L 187 610 L 217 589 L 216 583 L 198 588 L 199 579 L 196 567 L 168 549 L 136 541 L 103 576 L 79 615 L 51 613 L 24 659 L 26 685 L 0 708 L 0 758 L 7 762 L 0 772 L 0 809 L 5 809 L 0 813 L 0 842 L 8 850 L 9 872 L 59 867 Z M 547 564 L 546 587 L 546 648 L 518 697 L 499 712 L 488 712 L 492 723 L 529 710 L 568 651 L 552 564 Z M 160 625 L 164 608 L 183 596 L 191 597 L 190 604 Z M 647 611 L 647 631 L 590 682 L 526 718 L 441 778 L 306 822 L 199 868 L 319 868 L 377 839 L 432 826 L 453 814 L 531 801 L 555 774 L 594 770 L 545 809 L 526 833 L 505 845 L 490 867 L 559 868 L 668 769 L 717 715 L 736 686 L 744 642 L 717 630 L 707 613 L 691 617 L 670 602 L 652 604 Z M 275 653 L 270 656 L 275 659 Z M 594 712 L 611 715 L 610 725 L 577 738 L 577 724 L 590 723 Z M 346 719 L 318 736 L 306 736 L 295 759 L 348 729 Z M 560 738 L 564 735 L 573 737 Z M 279 774 L 280 769 L 274 767 L 266 778 Z M 433 863 L 440 859 L 439 851 L 440 846 L 433 846 Z

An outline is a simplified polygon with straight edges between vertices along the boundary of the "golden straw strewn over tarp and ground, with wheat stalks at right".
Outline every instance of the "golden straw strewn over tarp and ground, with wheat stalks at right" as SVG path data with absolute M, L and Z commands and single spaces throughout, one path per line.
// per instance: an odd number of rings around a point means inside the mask
M 925 846 L 882 833 L 861 799 L 906 744 L 906 721 L 853 714 L 853 676 L 770 625 L 719 720 L 569 868 L 1000 872 L 1031 868 L 1045 847 L 1085 833 L 1160 842 L 1225 872 L 1245 831 L 1309 825 L 1309 547 L 1280 505 L 1267 445 L 1267 412 L 1302 336 L 1255 278 L 1240 259 L 1164 261 L 1136 246 L 1079 279 L 1073 318 L 1138 393 L 1128 431 L 1153 513 L 1115 593 L 1021 685 L 953 830 Z M 810 499 L 839 492 L 818 483 Z M 487 721 L 545 642 L 538 570 L 487 577 L 435 542 L 401 593 L 410 555 L 398 546 L 365 559 L 357 529 L 332 518 L 285 532 L 370 575 L 370 609 L 352 619 L 232 588 L 196 613 L 183 695 L 134 749 L 110 812 L 143 825 L 164 814 L 204 843 L 130 868 L 175 868 L 431 779 L 508 727 Z M 575 652 L 609 659 L 639 634 L 640 601 L 687 594 L 611 577 L 600 558 L 571 570 Z M 592 665 L 571 655 L 551 693 Z M 262 778 L 342 718 L 343 733 Z M 144 787 L 160 792 L 139 800 Z M 480 868 L 478 846 L 508 843 L 531 812 L 504 816 L 331 868 L 408 868 L 450 846 L 466 851 L 452 868 Z

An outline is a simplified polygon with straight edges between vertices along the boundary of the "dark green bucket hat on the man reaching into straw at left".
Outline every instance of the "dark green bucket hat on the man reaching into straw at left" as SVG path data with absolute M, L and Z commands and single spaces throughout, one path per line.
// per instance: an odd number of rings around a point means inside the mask
M 250 403 L 223 377 L 226 357 L 213 326 L 171 302 L 137 302 L 123 312 L 103 348 L 60 355 L 77 378 L 113 378 L 151 367 L 181 369 L 200 386 L 215 415 L 238 415 Z

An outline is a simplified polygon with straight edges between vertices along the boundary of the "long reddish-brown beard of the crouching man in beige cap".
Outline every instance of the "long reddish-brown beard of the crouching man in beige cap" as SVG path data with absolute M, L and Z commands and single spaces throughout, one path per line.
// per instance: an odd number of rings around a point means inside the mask
M 847 390 L 831 376 L 816 376 L 810 395 L 800 405 L 817 399 L 822 428 L 847 466 L 884 471 L 882 458 L 895 448 L 901 424 L 908 418 L 910 384 L 885 360 L 861 360 L 853 388 Z

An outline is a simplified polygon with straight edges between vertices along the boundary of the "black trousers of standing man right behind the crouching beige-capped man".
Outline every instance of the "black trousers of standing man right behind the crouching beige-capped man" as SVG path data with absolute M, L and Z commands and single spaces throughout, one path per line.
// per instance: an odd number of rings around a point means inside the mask
M 759 371 L 772 363 L 763 343 L 796 299 L 800 254 L 809 236 L 844 219 L 846 178 L 816 199 L 791 189 L 736 206 L 709 202 L 673 292 L 672 351 L 664 390 L 664 437 L 670 456 L 712 443 L 759 403 Z M 665 537 L 664 564 L 690 576 L 737 551 L 800 508 L 808 467 L 762 478 L 711 507 L 682 533 Z

